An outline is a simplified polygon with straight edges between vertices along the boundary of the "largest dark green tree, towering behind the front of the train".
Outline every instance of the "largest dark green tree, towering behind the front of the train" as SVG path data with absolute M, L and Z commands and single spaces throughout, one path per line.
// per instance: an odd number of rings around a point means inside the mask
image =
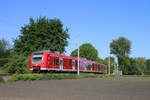
M 14 40 L 14 51 L 17 54 L 29 55 L 33 51 L 65 51 L 69 38 L 68 29 L 63 29 L 59 19 L 39 17 L 30 18 L 30 23 L 21 27 L 19 39 Z

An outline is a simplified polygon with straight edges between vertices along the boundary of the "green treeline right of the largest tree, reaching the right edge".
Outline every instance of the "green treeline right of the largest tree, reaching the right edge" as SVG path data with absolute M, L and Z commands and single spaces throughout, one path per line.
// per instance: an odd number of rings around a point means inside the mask
M 131 42 L 124 37 L 119 37 L 110 43 L 110 52 L 117 58 L 117 62 L 113 56 L 110 57 L 110 73 L 114 73 L 115 66 L 119 67 L 124 75 L 142 75 L 150 74 L 150 59 L 145 57 L 130 57 Z M 71 56 L 77 57 L 78 50 L 74 50 Z M 109 57 L 101 59 L 98 57 L 98 51 L 90 43 L 80 46 L 80 57 L 89 60 L 98 61 L 108 66 Z M 108 69 L 108 68 L 107 68 Z

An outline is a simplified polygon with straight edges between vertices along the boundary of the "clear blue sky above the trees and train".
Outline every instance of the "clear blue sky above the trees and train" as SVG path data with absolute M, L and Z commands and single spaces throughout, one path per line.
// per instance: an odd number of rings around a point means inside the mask
M 80 44 L 91 43 L 105 58 L 113 39 L 132 42 L 131 57 L 150 58 L 149 0 L 1 0 L 0 39 L 13 44 L 29 18 L 59 18 L 69 28 L 67 55 Z

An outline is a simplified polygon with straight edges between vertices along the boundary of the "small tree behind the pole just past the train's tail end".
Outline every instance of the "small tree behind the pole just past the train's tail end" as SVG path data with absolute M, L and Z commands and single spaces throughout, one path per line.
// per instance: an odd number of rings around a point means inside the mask
M 104 59 L 104 64 L 107 65 L 107 67 L 108 67 L 108 60 L 109 60 L 109 57 L 106 57 Z M 115 64 L 116 64 L 115 63 L 115 58 L 111 56 L 110 57 L 110 73 L 113 73 Z

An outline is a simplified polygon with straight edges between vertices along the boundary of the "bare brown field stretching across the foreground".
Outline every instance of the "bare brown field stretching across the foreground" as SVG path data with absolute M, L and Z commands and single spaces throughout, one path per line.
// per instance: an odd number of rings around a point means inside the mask
M 150 100 L 150 78 L 1 83 L 0 100 Z

